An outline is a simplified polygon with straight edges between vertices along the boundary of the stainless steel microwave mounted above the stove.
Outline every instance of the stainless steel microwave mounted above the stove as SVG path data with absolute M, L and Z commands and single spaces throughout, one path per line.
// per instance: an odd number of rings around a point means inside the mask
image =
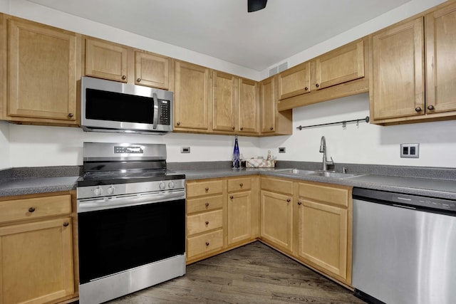
M 82 77 L 81 127 L 162 135 L 172 131 L 172 101 L 167 90 Z

